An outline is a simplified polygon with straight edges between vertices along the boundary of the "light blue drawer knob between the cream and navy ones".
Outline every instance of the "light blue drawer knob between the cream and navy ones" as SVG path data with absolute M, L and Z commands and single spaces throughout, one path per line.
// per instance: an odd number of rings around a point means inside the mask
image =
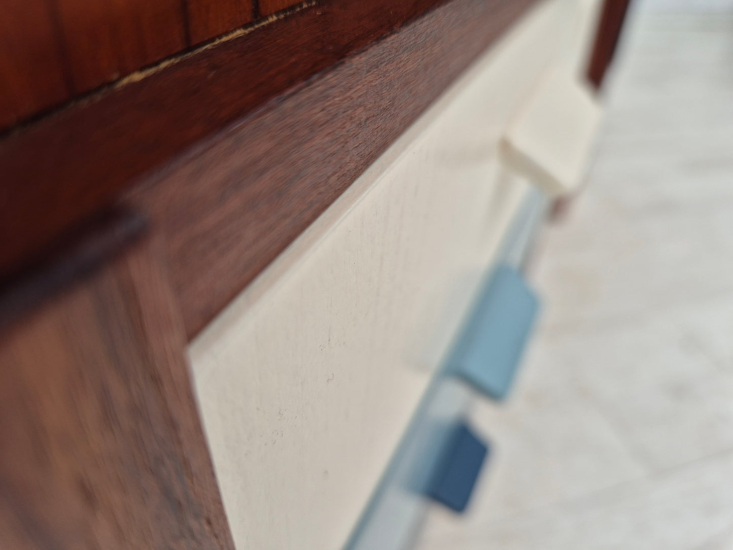
M 499 265 L 471 313 L 449 368 L 490 397 L 507 395 L 538 307 L 522 275 Z

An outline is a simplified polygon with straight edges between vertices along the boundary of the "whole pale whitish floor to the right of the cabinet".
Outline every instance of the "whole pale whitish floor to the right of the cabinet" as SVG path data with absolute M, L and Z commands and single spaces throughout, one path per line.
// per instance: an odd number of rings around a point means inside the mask
M 493 461 L 420 550 L 733 549 L 733 11 L 636 4 Z

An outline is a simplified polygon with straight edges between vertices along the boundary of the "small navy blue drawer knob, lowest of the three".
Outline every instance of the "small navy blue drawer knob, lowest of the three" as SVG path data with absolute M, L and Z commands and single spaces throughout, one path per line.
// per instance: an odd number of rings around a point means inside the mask
M 487 445 L 461 422 L 446 440 L 427 488 L 428 496 L 456 512 L 463 512 L 474 491 L 487 452 Z

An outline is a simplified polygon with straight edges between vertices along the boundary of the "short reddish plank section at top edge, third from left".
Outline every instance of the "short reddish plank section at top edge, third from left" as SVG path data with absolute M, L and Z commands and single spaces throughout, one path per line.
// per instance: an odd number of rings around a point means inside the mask
M 185 9 L 191 44 L 237 29 L 254 18 L 251 0 L 187 0 Z

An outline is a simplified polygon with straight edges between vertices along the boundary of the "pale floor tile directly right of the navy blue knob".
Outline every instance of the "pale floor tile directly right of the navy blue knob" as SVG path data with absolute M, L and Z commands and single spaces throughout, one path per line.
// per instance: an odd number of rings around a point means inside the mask
M 464 528 L 479 527 L 647 473 L 611 423 L 587 404 L 572 401 L 516 412 L 483 408 L 472 415 L 472 423 L 490 440 L 490 465 L 463 516 L 435 508 L 433 533 L 451 532 L 456 521 Z

